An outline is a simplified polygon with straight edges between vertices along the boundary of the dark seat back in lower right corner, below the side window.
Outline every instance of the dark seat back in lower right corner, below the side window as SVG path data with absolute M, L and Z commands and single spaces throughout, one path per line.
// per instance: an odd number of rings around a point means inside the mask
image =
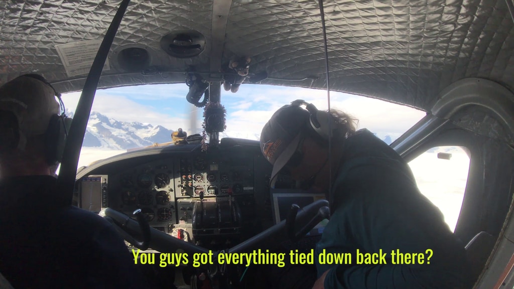
M 470 267 L 470 281 L 476 282 L 480 273 L 484 269 L 485 263 L 491 255 L 492 248 L 496 243 L 496 238 L 487 232 L 476 234 L 466 245 L 466 257 Z

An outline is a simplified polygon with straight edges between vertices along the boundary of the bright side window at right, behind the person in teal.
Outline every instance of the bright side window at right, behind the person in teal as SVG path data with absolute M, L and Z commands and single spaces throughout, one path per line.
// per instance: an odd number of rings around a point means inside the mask
M 409 162 L 419 191 L 436 205 L 452 231 L 461 213 L 469 171 L 463 147 L 435 147 Z

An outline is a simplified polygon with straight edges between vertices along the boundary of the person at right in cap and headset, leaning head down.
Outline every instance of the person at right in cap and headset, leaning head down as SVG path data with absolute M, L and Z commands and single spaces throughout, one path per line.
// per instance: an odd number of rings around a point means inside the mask
M 313 288 L 465 286 L 464 245 L 438 208 L 419 192 L 405 160 L 370 131 L 356 131 L 350 116 L 293 101 L 264 126 L 261 151 L 273 165 L 271 187 L 281 172 L 326 193 L 331 220 L 316 254 L 352 254 L 352 264 L 318 263 Z M 381 264 L 356 264 L 357 249 L 388 254 Z M 393 250 L 412 254 L 427 249 L 433 250 L 430 264 L 393 264 L 391 259 Z

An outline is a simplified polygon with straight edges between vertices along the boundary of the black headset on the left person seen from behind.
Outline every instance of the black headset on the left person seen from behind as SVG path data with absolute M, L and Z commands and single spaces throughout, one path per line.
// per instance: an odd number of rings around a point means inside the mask
M 62 160 L 64 145 L 68 136 L 68 130 L 71 125 L 71 118 L 64 113 L 64 104 L 59 94 L 46 79 L 38 74 L 25 74 L 19 77 L 30 77 L 43 82 L 52 88 L 54 95 L 59 99 L 62 113 L 54 114 L 50 117 L 48 128 L 45 132 L 45 157 L 48 165 L 57 165 Z M 16 122 L 17 123 L 17 122 Z M 13 134 L 14 139 L 11 141 L 10 148 L 19 147 L 20 133 Z

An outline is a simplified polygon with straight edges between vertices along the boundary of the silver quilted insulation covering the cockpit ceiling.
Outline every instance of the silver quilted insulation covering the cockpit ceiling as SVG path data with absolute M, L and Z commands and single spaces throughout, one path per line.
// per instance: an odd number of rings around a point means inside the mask
M 58 91 L 82 89 L 87 71 L 70 74 L 57 47 L 94 51 L 83 41 L 101 40 L 118 6 L 112 0 L 1 1 L 0 83 L 36 72 Z M 443 88 L 466 77 L 512 91 L 514 25 L 505 0 L 329 0 L 324 11 L 334 91 L 423 110 Z M 164 35 L 180 30 L 204 35 L 199 56 L 175 58 L 161 49 Z M 127 47 L 148 51 L 144 69 L 123 68 L 119 54 Z M 132 1 L 99 87 L 184 82 L 191 65 L 215 80 L 234 56 L 252 59 L 250 74 L 266 71 L 262 84 L 326 89 L 318 2 Z

